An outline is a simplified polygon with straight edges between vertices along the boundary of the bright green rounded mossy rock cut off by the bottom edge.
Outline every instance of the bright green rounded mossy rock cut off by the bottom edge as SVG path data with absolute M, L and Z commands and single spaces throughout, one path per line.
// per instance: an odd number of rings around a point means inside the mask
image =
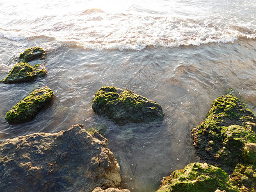
M 216 189 L 239 191 L 235 182 L 221 168 L 207 163 L 191 163 L 183 170 L 176 170 L 164 177 L 157 192 L 214 192 Z

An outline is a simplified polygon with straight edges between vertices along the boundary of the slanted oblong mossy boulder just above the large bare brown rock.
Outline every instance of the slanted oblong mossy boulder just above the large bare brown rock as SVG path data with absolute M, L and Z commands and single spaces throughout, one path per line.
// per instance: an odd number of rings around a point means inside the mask
M 44 87 L 35 90 L 6 113 L 6 120 L 9 124 L 29 122 L 40 111 L 49 107 L 52 99 L 53 92 L 50 88 Z

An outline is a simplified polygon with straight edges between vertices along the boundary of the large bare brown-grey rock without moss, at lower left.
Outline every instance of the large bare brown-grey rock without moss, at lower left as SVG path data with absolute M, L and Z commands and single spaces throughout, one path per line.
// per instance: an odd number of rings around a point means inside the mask
M 120 167 L 108 140 L 84 125 L 34 133 L 0 144 L 0 191 L 84 191 L 118 188 Z

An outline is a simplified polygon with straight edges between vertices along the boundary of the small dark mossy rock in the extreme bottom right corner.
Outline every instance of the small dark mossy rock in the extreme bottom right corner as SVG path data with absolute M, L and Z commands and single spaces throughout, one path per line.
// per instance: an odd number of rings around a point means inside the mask
M 234 180 L 240 191 L 256 191 L 256 166 L 252 164 L 237 164 L 230 178 Z

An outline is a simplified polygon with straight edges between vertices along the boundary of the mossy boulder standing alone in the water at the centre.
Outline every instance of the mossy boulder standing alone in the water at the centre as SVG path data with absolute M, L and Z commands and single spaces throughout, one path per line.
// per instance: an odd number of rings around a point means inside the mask
M 116 124 L 152 122 L 163 120 L 163 109 L 159 104 L 137 95 L 131 90 L 103 86 L 95 94 L 92 104 L 95 113 L 106 116 Z

